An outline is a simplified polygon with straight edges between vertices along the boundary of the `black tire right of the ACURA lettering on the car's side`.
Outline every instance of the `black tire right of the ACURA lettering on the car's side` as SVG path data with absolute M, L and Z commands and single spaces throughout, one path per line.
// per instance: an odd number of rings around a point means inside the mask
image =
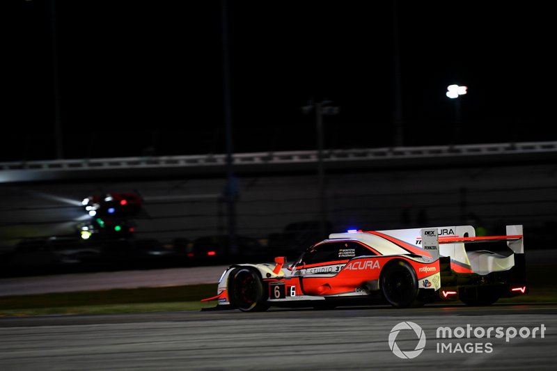
M 423 306 L 418 300 L 418 278 L 408 262 L 397 260 L 383 268 L 379 278 L 383 297 L 395 308 Z

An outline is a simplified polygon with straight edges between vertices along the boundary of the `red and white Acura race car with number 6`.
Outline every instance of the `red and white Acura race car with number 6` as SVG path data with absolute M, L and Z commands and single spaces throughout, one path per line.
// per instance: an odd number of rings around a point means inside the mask
M 217 295 L 202 301 L 243 312 L 377 301 L 396 308 L 447 300 L 485 306 L 528 292 L 522 230 L 506 226 L 506 235 L 493 236 L 476 236 L 473 226 L 333 233 L 291 265 L 285 257 L 230 265 Z M 504 251 L 473 247 L 484 244 Z

